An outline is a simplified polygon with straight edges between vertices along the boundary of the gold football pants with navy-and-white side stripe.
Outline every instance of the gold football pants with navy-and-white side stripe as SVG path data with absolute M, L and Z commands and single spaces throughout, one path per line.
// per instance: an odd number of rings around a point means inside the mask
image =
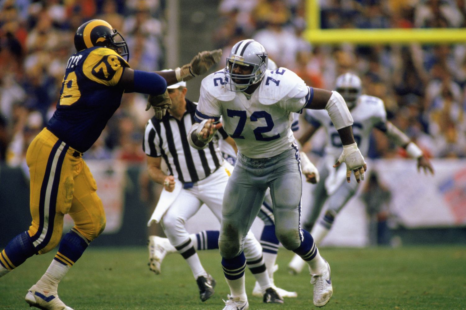
M 60 242 L 64 214 L 71 216 L 75 230 L 88 241 L 105 227 L 96 180 L 81 156 L 47 128 L 27 149 L 32 216 L 28 233 L 39 254 L 47 253 Z

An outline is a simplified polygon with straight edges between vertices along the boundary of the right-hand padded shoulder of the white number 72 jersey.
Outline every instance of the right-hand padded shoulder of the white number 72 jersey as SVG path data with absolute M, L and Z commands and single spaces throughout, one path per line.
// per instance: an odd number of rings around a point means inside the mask
M 295 72 L 280 67 L 267 70 L 259 87 L 259 102 L 271 105 L 296 96 L 306 83 Z

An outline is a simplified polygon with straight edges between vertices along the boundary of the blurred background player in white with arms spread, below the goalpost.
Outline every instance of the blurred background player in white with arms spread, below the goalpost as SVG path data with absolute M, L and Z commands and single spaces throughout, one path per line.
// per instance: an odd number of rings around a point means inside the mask
M 366 156 L 369 150 L 370 132 L 373 128 L 377 128 L 397 145 L 403 147 L 412 158 L 417 158 L 418 170 L 423 168 L 425 172 L 434 173 L 429 159 L 425 157 L 419 147 L 395 125 L 387 121 L 387 113 L 382 99 L 361 94 L 362 84 L 358 76 L 349 72 L 338 76 L 336 90 L 342 94 L 351 111 L 354 119 L 354 138 L 363 156 Z M 319 245 L 329 233 L 336 214 L 356 193 L 356 186 L 344 182 L 345 172 L 341 168 L 334 169 L 331 167 L 342 150 L 342 144 L 327 113 L 318 110 L 307 110 L 305 118 L 311 124 L 311 127 L 299 139 L 302 144 L 306 143 L 320 126 L 325 129 L 327 136 L 326 156 L 319 163 L 320 181 L 315 186 L 311 212 L 303 225 L 305 229 L 312 229 L 311 234 L 314 241 Z M 328 208 L 325 214 L 317 220 L 327 200 Z M 293 274 L 301 272 L 304 266 L 305 262 L 298 255 L 295 255 L 288 264 L 288 268 Z

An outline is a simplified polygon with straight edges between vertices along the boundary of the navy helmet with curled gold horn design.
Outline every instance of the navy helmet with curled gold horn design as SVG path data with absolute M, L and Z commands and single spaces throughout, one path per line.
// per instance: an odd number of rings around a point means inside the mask
M 123 36 L 117 31 L 117 29 L 112 28 L 106 21 L 87 21 L 76 30 L 76 51 L 81 51 L 94 46 L 111 48 L 120 56 L 126 56 L 126 61 L 130 58 L 128 44 L 123 39 Z

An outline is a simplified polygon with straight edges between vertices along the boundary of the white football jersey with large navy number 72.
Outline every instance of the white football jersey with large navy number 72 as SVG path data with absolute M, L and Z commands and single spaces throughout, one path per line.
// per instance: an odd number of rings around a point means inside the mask
M 238 151 L 250 158 L 276 156 L 295 141 L 293 113 L 301 113 L 314 90 L 291 70 L 267 70 L 252 95 L 235 92 L 225 85 L 223 70 L 202 80 L 196 120 L 222 116 L 223 128 Z

